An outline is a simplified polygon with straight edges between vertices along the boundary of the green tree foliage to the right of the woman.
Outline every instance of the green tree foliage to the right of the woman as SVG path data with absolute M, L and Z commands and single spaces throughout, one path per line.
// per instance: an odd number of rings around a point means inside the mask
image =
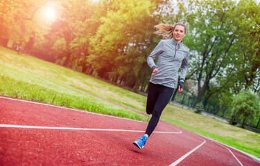
M 241 89 L 259 91 L 259 4 L 211 0 L 174 5 L 164 19 L 187 24 L 184 44 L 191 51 L 186 79 L 198 86 L 197 103 L 206 98 L 229 104 Z

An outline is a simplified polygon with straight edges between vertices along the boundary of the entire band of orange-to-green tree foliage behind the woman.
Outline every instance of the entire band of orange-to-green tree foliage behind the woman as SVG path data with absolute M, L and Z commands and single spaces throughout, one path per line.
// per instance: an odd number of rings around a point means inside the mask
M 42 17 L 49 3 L 57 12 L 55 21 Z M 228 104 L 234 93 L 260 89 L 259 10 L 253 0 L 3 0 L 0 39 L 144 91 L 151 73 L 146 58 L 159 42 L 153 26 L 183 22 L 188 30 L 184 44 L 191 50 L 187 80 L 198 86 L 197 102 L 207 98 Z

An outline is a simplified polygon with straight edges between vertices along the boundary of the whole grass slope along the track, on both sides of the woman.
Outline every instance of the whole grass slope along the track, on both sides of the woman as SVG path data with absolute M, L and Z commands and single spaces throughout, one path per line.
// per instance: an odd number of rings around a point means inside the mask
M 0 95 L 136 120 L 149 119 L 79 90 L 145 112 L 146 97 L 69 68 L 0 48 Z M 79 89 L 79 90 L 77 90 Z M 260 158 L 260 134 L 168 104 L 162 120 Z

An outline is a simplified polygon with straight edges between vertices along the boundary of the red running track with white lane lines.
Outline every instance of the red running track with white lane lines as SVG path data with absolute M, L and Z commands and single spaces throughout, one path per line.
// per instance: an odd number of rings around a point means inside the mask
M 0 165 L 260 165 L 254 158 L 160 121 L 147 122 L 0 96 Z

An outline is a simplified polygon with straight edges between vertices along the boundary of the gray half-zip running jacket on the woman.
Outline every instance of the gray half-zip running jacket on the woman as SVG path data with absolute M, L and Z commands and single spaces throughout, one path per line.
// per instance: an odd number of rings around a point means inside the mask
M 178 44 L 180 44 L 179 48 Z M 156 65 L 154 59 L 157 57 L 158 61 Z M 178 43 L 175 39 L 161 40 L 147 58 L 147 63 L 152 71 L 154 68 L 158 68 L 158 72 L 151 75 L 150 82 L 177 89 L 179 68 L 181 67 L 181 82 L 184 82 L 187 73 L 188 58 L 189 48 L 182 42 Z

